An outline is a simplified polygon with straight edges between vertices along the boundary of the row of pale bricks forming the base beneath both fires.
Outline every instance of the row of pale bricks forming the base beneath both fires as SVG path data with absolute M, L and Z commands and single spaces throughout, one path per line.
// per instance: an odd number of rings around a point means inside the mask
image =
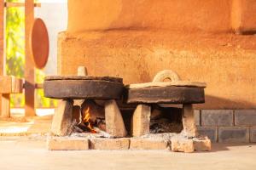
M 210 151 L 207 137 L 187 139 L 174 133 L 148 134 L 139 138 L 49 137 L 48 150 L 172 150 L 180 152 Z

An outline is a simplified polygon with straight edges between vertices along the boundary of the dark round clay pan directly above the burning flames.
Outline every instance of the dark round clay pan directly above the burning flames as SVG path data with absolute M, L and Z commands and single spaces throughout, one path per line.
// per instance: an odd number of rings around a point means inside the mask
M 44 78 L 44 96 L 52 99 L 120 99 L 123 89 L 118 77 Z

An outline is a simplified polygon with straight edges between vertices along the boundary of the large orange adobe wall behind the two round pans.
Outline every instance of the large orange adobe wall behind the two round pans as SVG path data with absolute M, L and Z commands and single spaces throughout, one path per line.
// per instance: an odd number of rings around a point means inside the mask
M 207 102 L 197 108 L 255 109 L 256 37 L 232 33 L 256 30 L 256 17 L 241 12 L 255 14 L 254 4 L 69 0 L 68 28 L 59 35 L 58 72 L 76 74 L 85 65 L 90 75 L 136 83 L 172 69 L 183 80 L 207 82 Z

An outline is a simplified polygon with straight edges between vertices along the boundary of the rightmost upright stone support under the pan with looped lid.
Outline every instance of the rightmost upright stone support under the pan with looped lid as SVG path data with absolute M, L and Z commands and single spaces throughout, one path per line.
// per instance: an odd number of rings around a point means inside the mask
M 196 136 L 195 116 L 193 105 L 183 105 L 183 133 L 188 137 Z

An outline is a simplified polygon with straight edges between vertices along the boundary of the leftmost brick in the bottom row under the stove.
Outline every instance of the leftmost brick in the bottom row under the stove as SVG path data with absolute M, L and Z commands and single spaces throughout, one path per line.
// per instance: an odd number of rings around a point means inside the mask
M 48 150 L 89 150 L 89 140 L 74 137 L 51 137 L 47 139 Z

